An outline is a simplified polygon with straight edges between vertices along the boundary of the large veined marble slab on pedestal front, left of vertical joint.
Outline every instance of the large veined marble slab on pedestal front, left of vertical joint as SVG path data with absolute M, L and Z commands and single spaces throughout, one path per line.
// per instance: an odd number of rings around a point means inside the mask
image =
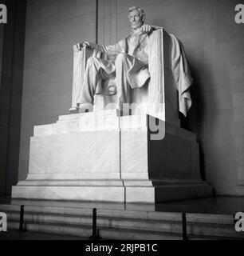
M 33 137 L 30 174 L 120 173 L 120 132 L 96 131 Z

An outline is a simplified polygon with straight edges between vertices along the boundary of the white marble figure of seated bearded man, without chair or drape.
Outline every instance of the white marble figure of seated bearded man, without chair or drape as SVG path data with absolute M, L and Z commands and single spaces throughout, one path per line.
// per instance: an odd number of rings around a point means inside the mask
M 155 28 L 144 24 L 144 10 L 139 7 L 128 9 L 128 18 L 131 32 L 128 36 L 113 46 L 101 46 L 92 42 L 78 43 L 74 47 L 90 47 L 108 56 L 108 60 L 91 57 L 85 69 L 84 83 L 81 97 L 77 106 L 82 111 L 93 104 L 94 94 L 100 90 L 111 89 L 97 88 L 101 86 L 100 80 L 116 78 L 117 109 L 122 110 L 123 103 L 130 102 L 130 89 L 140 88 L 150 78 L 148 72 L 148 34 Z

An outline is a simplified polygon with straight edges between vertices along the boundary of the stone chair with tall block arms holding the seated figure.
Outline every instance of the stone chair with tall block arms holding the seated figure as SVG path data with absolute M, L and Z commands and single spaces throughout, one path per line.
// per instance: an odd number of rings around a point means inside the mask
M 179 126 L 178 118 L 178 92 L 173 81 L 170 63 L 170 38 L 169 34 L 157 27 L 149 36 L 148 70 L 151 75 L 149 82 L 139 89 L 132 89 L 131 114 L 152 114 L 163 121 Z M 77 101 L 81 94 L 81 85 L 85 73 L 86 62 L 89 57 L 108 58 L 97 50 L 74 50 L 73 53 L 73 98 L 70 112 L 77 113 Z M 116 87 L 115 79 L 110 78 L 104 83 Z M 116 94 L 94 97 L 94 111 L 115 108 Z

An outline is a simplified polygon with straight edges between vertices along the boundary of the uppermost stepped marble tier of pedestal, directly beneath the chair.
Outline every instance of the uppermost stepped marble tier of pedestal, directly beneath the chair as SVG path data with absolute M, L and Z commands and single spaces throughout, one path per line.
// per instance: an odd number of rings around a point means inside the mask
M 151 119 L 150 119 L 151 118 Z M 97 130 L 147 130 L 154 124 L 154 117 L 148 114 L 136 114 L 118 117 L 116 110 L 90 112 L 85 114 L 68 114 L 59 116 L 56 123 L 34 126 L 33 136 L 47 136 L 52 134 L 66 134 L 69 132 L 85 132 Z M 175 134 L 192 142 L 196 142 L 196 135 L 179 126 L 172 126 L 168 122 L 159 121 L 160 126 L 166 128 L 168 134 Z

